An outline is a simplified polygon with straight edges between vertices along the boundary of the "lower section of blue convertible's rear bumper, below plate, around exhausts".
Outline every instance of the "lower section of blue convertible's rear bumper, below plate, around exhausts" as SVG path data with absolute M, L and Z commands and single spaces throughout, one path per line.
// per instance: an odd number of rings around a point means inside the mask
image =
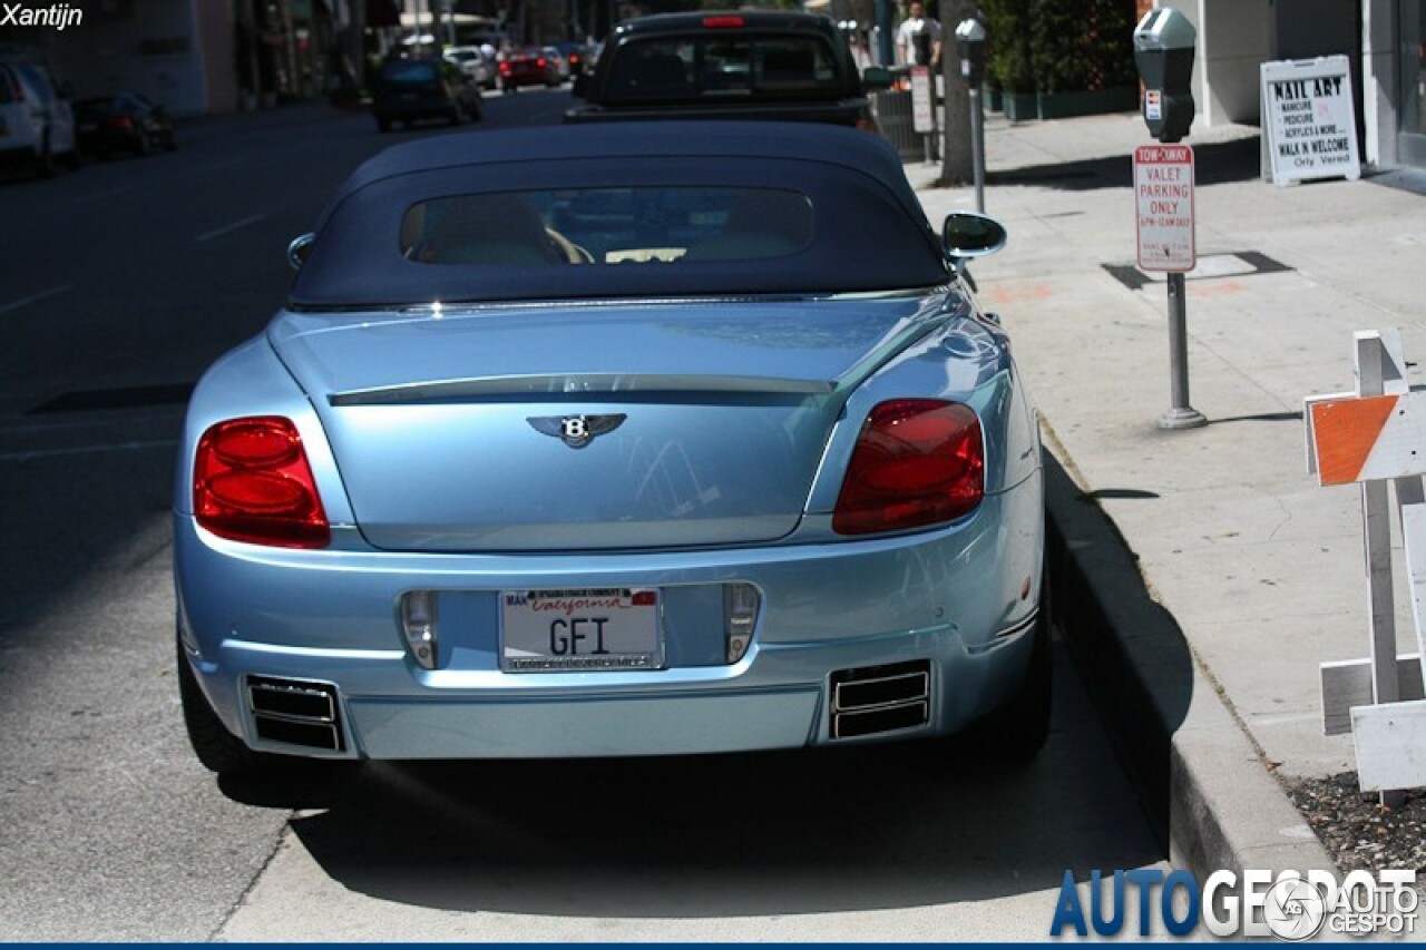
M 195 672 L 228 727 L 254 749 L 268 752 L 345 759 L 752 752 L 954 733 L 1020 683 L 1030 662 L 1030 629 L 1027 622 L 975 653 L 944 629 L 764 649 L 750 663 L 756 673 L 743 669 L 700 683 L 669 676 L 663 685 L 645 679 L 625 688 L 381 695 L 376 683 L 409 675 L 399 653 L 328 653 L 314 662 L 318 658 L 238 642 L 224 643 L 218 663 L 198 662 Z M 924 665 L 928 673 L 924 710 L 908 710 L 910 719 L 897 716 L 886 727 L 838 739 L 834 717 L 846 713 L 833 708 L 831 678 L 883 669 L 896 658 L 923 658 L 903 665 Z M 275 680 L 274 669 L 292 679 Z M 287 733 L 268 730 L 251 685 L 274 682 L 328 688 L 335 698 L 329 737 L 284 742 Z

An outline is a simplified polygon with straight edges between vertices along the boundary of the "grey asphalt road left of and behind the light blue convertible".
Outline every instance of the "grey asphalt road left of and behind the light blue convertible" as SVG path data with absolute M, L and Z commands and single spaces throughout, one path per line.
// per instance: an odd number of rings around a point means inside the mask
M 491 97 L 485 126 L 569 104 Z M 1067 869 L 1161 862 L 1062 656 L 1030 767 L 920 746 L 198 766 L 168 573 L 187 389 L 262 328 L 337 181 L 436 134 L 289 107 L 0 183 L 0 941 L 1034 939 Z

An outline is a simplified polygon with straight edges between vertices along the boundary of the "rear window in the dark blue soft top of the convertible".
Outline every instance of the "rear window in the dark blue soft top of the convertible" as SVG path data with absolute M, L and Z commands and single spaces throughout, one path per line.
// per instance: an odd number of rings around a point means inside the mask
M 401 223 L 421 264 L 669 265 L 796 254 L 811 201 L 780 188 L 630 187 L 446 195 Z

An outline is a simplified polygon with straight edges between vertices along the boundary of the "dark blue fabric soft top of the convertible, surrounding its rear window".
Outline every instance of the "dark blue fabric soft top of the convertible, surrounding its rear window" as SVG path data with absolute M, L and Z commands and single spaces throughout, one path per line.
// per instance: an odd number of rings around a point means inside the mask
M 435 267 L 404 254 L 412 208 L 451 195 L 620 187 L 796 191 L 814 231 L 796 254 L 676 265 Z M 816 294 L 950 280 L 933 233 L 881 138 L 800 123 L 607 123 L 441 136 L 356 168 L 318 223 L 294 308 L 665 295 Z

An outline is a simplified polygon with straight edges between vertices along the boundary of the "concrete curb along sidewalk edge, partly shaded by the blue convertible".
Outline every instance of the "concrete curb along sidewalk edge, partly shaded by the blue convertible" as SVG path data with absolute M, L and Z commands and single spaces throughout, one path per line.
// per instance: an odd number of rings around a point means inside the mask
M 1169 860 L 1199 882 L 1245 867 L 1335 872 L 1124 538 L 1075 484 L 1072 459 L 1055 455 L 1045 452 L 1045 502 L 1057 619 Z

